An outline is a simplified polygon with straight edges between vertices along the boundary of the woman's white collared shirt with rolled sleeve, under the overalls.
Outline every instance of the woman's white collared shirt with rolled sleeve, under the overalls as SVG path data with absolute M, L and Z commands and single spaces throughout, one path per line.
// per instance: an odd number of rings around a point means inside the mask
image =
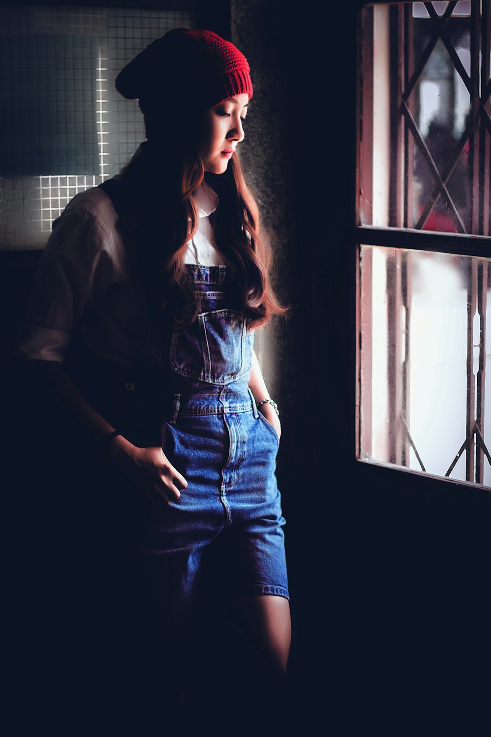
M 226 264 L 214 245 L 208 217 L 218 205 L 216 193 L 202 183 L 194 198 L 198 228 L 185 261 Z M 95 354 L 121 365 L 133 363 L 146 331 L 146 300 L 132 245 L 102 189 L 76 195 L 54 220 L 15 354 L 62 363 L 77 329 Z

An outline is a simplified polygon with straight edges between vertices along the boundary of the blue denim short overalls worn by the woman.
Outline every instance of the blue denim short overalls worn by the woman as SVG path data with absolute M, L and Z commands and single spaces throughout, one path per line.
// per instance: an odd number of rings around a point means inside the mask
M 102 189 L 124 226 L 127 205 L 116 184 Z M 117 390 L 120 406 L 130 408 L 118 429 L 142 447 L 160 442 L 188 482 L 169 505 L 135 494 L 133 518 L 158 618 L 180 623 L 194 610 L 211 550 L 219 551 L 217 593 L 289 598 L 275 478 L 278 434 L 248 387 L 254 334 L 230 309 L 230 267 L 186 268 L 201 296 L 197 320 L 178 329 L 151 320 L 141 359 L 119 375 Z

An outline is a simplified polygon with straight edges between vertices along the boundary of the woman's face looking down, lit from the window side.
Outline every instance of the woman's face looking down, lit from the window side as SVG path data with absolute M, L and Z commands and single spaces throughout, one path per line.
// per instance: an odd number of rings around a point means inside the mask
M 205 160 L 205 170 L 223 174 L 236 150 L 244 140 L 244 122 L 249 104 L 248 94 L 237 94 L 205 112 L 204 133 L 199 153 Z

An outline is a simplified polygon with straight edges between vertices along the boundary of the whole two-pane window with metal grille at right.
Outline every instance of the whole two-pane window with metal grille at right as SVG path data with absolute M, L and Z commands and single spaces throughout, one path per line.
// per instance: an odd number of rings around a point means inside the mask
M 490 487 L 490 0 L 359 36 L 358 459 Z

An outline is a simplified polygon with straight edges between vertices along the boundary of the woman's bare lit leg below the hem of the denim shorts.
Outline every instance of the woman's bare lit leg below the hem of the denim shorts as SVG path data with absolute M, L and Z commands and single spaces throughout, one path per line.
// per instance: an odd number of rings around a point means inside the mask
M 264 655 L 275 674 L 286 675 L 292 641 L 289 601 L 283 596 L 234 596 L 225 602 L 233 619 Z

